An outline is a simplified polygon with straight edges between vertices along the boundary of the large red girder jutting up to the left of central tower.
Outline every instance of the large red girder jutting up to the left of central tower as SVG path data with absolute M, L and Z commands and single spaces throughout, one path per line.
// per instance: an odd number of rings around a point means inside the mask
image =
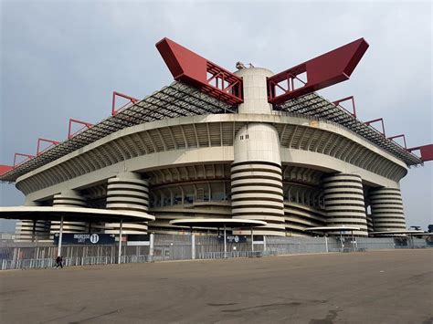
M 229 104 L 243 102 L 242 78 L 171 39 L 162 39 L 156 43 L 156 48 L 175 80 L 201 89 Z

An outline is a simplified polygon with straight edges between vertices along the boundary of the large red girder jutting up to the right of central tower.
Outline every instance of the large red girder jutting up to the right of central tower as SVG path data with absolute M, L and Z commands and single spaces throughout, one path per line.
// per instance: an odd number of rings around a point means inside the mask
M 268 78 L 269 102 L 280 104 L 350 78 L 367 48 L 368 43 L 360 38 Z

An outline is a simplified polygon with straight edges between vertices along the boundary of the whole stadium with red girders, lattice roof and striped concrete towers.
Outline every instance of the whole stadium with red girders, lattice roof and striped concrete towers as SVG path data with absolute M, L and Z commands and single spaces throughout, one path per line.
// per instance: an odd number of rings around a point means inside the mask
M 143 215 L 122 225 L 77 216 L 64 233 L 122 226 L 132 236 L 186 235 L 174 221 L 222 218 L 266 222 L 254 234 L 267 236 L 407 229 L 399 182 L 433 159 L 433 145 L 407 148 L 404 135 L 385 136 L 382 119 L 358 120 L 353 97 L 332 102 L 314 92 L 351 76 L 368 47 L 363 38 L 278 74 L 240 62 L 232 73 L 168 38 L 156 47 L 171 85 L 144 99 L 114 92 L 111 117 L 69 120 L 66 141 L 39 139 L 36 155 L 16 153 L 14 165 L 1 166 L 0 181 L 26 195 L 25 206 L 2 213 L 21 219 L 17 240 L 58 233 L 58 220 L 23 219 L 42 207 Z

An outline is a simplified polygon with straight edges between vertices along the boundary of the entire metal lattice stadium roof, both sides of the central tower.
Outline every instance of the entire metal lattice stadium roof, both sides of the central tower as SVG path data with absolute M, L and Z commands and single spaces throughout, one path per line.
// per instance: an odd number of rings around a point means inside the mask
M 316 93 L 287 100 L 280 105 L 274 105 L 274 109 L 330 120 L 343 125 L 349 131 L 354 131 L 356 134 L 363 136 L 367 141 L 406 162 L 408 166 L 423 164 L 417 155 L 407 152 L 396 141 L 386 139 L 380 131 L 367 126 L 364 122 L 357 120 L 349 112 L 343 110 L 342 107 L 334 105 L 331 101 L 322 98 Z M 174 82 L 170 86 L 154 92 L 151 96 L 125 106 L 114 116 L 100 121 L 89 129 L 80 131 L 69 140 L 62 141 L 36 157 L 0 174 L 0 181 L 15 182 L 18 177 L 34 171 L 48 162 L 53 162 L 70 152 L 77 151 L 115 131 L 144 122 L 183 116 L 234 113 L 237 111 L 236 105 L 213 98 L 184 83 Z

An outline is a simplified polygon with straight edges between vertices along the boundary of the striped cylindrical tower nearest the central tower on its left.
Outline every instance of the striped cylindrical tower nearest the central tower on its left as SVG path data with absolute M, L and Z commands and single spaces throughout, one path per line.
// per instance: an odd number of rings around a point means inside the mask
M 146 213 L 149 208 L 149 188 L 139 173 L 123 172 L 108 180 L 107 209 Z M 106 224 L 105 233 L 118 234 L 118 223 Z M 125 223 L 124 234 L 146 234 L 147 223 Z

